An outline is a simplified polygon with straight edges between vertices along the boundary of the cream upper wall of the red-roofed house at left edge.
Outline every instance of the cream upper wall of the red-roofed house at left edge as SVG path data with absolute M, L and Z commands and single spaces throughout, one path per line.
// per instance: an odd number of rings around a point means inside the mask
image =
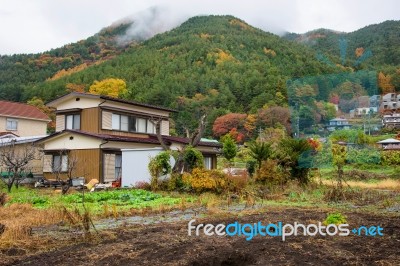
M 7 130 L 7 118 L 18 120 L 17 130 Z M 20 137 L 42 136 L 47 133 L 47 121 L 18 117 L 0 117 L 0 132 L 12 132 Z

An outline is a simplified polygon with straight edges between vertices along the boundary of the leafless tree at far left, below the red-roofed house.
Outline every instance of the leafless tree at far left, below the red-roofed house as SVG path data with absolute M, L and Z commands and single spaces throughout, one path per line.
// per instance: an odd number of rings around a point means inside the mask
M 7 185 L 8 192 L 11 192 L 13 185 L 19 184 L 31 171 L 30 162 L 36 159 L 37 150 L 34 144 L 17 145 L 15 140 L 0 142 L 0 165 L 8 172 L 6 177 L 1 177 Z

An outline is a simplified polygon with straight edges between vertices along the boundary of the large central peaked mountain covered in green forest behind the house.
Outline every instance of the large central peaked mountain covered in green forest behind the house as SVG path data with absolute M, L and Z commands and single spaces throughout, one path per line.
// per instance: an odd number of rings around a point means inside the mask
M 88 89 L 95 80 L 121 78 L 126 98 L 177 108 L 182 133 L 183 125 L 194 124 L 203 112 L 215 116 L 283 104 L 289 77 L 333 71 L 312 49 L 232 16 L 194 17 L 112 60 L 29 86 L 24 98 L 50 100 L 64 94 L 67 84 Z

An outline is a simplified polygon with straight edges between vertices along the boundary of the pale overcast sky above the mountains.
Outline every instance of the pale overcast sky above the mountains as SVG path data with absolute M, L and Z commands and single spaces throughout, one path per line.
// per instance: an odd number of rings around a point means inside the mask
M 0 0 L 0 54 L 61 47 L 154 6 L 163 7 L 159 24 L 167 28 L 208 14 L 234 15 L 273 33 L 350 32 L 400 19 L 398 0 Z

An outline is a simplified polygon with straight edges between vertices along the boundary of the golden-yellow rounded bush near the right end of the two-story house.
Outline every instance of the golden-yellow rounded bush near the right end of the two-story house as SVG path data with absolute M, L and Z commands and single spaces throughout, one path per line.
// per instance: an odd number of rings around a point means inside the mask
M 193 169 L 192 173 L 184 173 L 182 182 L 195 192 L 216 192 L 221 193 L 228 188 L 227 176 L 219 170 Z

